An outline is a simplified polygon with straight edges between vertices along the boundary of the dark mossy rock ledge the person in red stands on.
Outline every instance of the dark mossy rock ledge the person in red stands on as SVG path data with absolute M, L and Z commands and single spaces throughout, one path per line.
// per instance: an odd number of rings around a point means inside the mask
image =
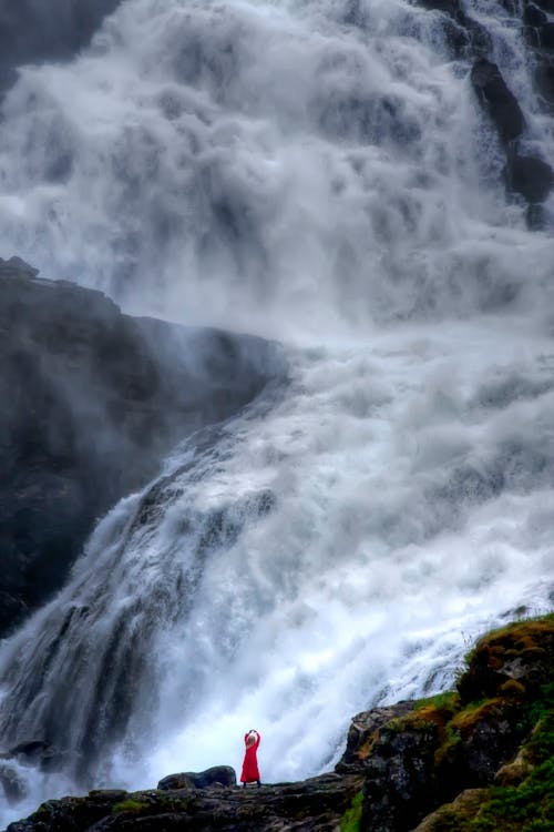
M 43 803 L 8 832 L 547 832 L 554 615 L 483 637 L 456 689 L 359 713 L 335 772 L 239 789 L 228 767 Z

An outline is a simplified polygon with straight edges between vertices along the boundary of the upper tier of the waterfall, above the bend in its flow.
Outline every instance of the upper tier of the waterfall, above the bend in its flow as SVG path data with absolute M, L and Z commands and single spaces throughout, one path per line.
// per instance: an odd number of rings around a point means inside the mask
M 3 105 L 4 240 L 127 311 L 264 334 L 545 291 L 552 241 L 506 204 L 441 16 L 368 2 L 352 23 L 348 8 L 134 0 L 70 69 L 22 69 Z M 554 161 L 523 75 L 527 140 Z

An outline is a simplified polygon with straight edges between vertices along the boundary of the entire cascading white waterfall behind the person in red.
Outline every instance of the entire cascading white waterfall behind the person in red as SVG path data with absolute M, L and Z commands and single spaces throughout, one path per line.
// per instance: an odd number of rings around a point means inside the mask
M 512 20 L 468 9 L 547 159 Z M 329 767 L 350 717 L 452 681 L 552 600 L 547 232 L 439 13 L 406 0 L 126 0 L 3 104 L 0 229 L 126 308 L 284 343 L 287 384 L 183 444 L 0 653 L 2 742 L 76 782 Z M 554 159 L 551 158 L 551 162 Z

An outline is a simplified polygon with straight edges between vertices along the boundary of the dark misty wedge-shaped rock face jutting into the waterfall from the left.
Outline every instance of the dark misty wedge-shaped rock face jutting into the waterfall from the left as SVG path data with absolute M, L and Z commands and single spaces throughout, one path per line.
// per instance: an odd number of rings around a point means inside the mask
M 132 318 L 100 292 L 0 260 L 0 637 L 61 586 L 94 522 L 173 444 L 280 372 L 271 356 L 260 339 Z

